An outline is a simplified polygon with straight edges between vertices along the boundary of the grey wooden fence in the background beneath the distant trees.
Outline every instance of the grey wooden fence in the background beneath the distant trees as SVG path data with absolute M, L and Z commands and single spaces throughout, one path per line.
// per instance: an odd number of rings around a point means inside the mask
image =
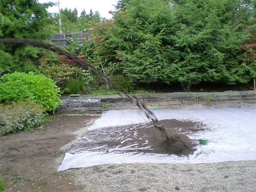
M 78 40 L 81 44 L 83 43 L 84 39 L 87 39 L 89 35 L 87 33 L 73 33 L 73 34 L 55 34 L 52 35 L 51 41 L 53 45 L 57 47 L 65 47 L 70 44 L 69 39 Z

